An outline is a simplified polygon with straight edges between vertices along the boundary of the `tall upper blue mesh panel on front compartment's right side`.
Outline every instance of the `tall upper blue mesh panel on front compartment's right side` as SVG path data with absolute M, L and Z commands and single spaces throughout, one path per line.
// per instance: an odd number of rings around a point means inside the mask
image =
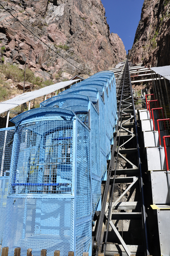
M 78 121 L 76 218 L 90 214 L 89 131 Z

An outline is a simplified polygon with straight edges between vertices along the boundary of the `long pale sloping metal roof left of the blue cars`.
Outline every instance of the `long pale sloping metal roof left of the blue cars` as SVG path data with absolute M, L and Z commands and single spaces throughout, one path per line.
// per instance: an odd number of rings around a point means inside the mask
M 80 80 L 80 79 L 60 82 L 57 84 L 52 84 L 52 85 L 43 87 L 39 90 L 23 93 L 19 96 L 14 97 L 13 99 L 9 99 L 4 102 L 0 102 L 0 113 L 6 112 L 6 111 L 8 111 L 12 108 L 15 108 L 25 102 L 29 102 L 30 100 L 35 99 L 37 97 L 44 96 L 46 94 L 55 92 L 56 90 L 64 88 L 78 80 Z

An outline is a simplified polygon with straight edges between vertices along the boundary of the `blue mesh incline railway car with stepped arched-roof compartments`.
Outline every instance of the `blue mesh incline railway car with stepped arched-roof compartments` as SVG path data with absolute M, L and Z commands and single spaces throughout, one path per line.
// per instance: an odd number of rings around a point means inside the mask
M 2 247 L 92 255 L 92 220 L 117 121 L 114 73 L 74 84 L 0 130 Z

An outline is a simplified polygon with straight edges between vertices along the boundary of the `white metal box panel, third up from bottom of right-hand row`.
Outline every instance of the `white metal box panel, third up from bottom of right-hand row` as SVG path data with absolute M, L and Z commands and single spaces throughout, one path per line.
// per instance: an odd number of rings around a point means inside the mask
M 161 149 L 163 168 L 166 169 L 164 147 Z M 170 146 L 167 146 L 167 155 L 170 155 Z M 170 166 L 170 157 L 168 158 L 168 164 Z M 161 170 L 161 161 L 159 148 L 147 148 L 147 166 L 149 171 Z

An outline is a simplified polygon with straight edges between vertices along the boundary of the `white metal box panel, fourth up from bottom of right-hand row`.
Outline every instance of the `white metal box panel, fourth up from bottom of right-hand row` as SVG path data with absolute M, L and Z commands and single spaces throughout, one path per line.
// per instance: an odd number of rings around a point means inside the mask
M 159 135 L 158 131 L 144 131 L 144 147 L 158 147 L 159 146 Z M 163 136 L 168 135 L 168 131 L 161 131 L 161 145 L 163 143 Z M 169 145 L 169 140 L 166 142 L 166 145 Z

